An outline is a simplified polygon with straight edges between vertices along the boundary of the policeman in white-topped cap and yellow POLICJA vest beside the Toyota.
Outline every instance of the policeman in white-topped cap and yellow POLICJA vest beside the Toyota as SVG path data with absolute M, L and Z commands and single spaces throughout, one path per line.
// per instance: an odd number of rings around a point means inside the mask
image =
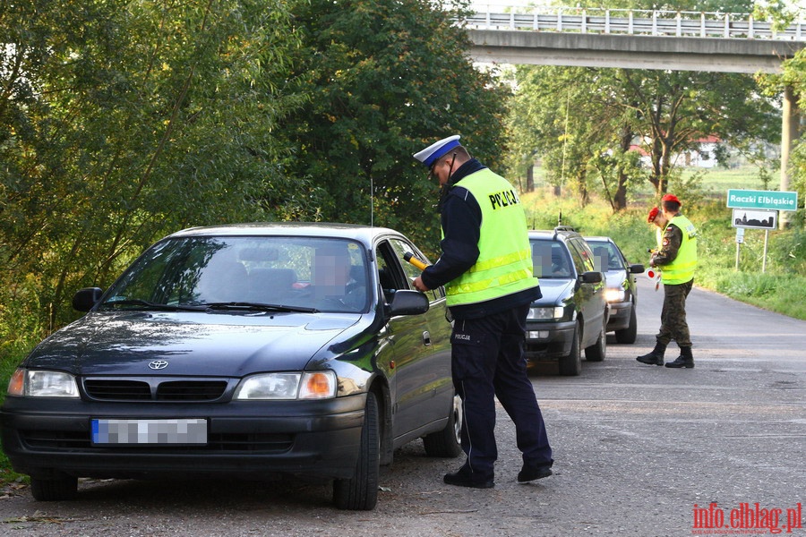
M 414 157 L 441 185 L 442 255 L 415 280 L 420 291 L 445 286 L 454 318 L 453 384 L 462 398 L 467 460 L 444 482 L 494 486 L 495 396 L 515 422 L 523 466 L 518 482 L 552 474 L 552 448 L 523 345 L 529 305 L 540 298 L 532 274 L 526 215 L 517 192 L 450 136 Z

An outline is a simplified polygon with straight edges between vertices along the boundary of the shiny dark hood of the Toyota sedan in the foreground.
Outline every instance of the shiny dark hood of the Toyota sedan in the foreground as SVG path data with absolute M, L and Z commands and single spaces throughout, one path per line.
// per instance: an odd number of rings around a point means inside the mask
M 24 365 L 76 375 L 234 377 L 302 370 L 362 316 L 92 312 L 43 341 Z M 349 337 L 346 335 L 346 337 Z M 339 341 L 344 338 L 339 337 Z M 155 360 L 167 362 L 159 371 Z

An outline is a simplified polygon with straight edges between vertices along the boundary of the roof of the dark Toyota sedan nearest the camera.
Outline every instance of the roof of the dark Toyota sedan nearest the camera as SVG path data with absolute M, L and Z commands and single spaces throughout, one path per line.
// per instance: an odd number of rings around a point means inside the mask
M 196 236 L 317 236 L 354 239 L 366 244 L 382 234 L 401 236 L 387 227 L 338 224 L 332 222 L 254 222 L 226 226 L 189 227 L 168 235 L 166 238 Z

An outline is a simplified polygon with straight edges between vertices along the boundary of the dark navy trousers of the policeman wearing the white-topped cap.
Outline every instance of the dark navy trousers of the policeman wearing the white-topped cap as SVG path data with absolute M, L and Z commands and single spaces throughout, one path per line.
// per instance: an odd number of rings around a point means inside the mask
M 523 352 L 529 304 L 480 319 L 456 320 L 452 336 L 453 384 L 462 397 L 462 449 L 479 478 L 493 477 L 495 400 L 515 422 L 525 465 L 552 465 L 543 414 L 527 377 Z

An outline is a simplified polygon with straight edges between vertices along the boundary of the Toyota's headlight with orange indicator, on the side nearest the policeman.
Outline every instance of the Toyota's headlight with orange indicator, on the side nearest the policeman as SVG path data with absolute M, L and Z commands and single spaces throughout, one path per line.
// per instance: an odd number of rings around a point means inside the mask
M 235 398 L 254 399 L 327 399 L 336 396 L 334 371 L 262 373 L 241 381 Z

